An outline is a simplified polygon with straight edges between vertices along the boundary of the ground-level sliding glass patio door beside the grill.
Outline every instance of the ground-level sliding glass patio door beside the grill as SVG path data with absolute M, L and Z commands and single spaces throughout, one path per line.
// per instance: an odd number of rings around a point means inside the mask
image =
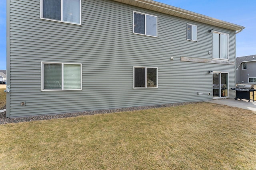
M 228 98 L 228 73 L 213 73 L 213 98 Z

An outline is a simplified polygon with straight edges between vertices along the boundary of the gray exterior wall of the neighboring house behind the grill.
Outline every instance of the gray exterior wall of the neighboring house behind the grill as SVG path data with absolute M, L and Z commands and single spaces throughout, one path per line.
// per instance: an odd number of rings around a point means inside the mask
M 247 69 L 242 70 L 242 63 L 240 64 L 240 66 L 236 70 L 236 83 L 237 84 L 256 84 L 256 83 L 249 82 L 249 77 L 256 77 L 256 61 L 248 61 L 243 63 L 247 63 Z

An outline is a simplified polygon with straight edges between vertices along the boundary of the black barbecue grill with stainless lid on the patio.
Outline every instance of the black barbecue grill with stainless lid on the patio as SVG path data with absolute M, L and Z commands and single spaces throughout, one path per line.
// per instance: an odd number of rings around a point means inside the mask
M 237 99 L 246 99 L 250 102 L 250 92 L 252 92 L 252 101 L 254 102 L 254 85 L 252 84 L 238 84 L 236 88 L 230 88 L 236 91 L 236 98 Z

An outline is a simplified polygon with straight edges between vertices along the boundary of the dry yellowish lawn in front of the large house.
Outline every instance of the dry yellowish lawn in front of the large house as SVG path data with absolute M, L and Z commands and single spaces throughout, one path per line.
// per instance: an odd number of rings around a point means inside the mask
M 256 113 L 211 103 L 0 125 L 2 169 L 255 170 Z

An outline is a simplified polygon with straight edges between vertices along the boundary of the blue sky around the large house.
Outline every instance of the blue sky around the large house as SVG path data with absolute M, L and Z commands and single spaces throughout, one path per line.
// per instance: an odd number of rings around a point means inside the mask
M 39 2 L 40 0 L 38 0 Z M 236 57 L 256 55 L 256 0 L 156 0 L 246 27 L 236 35 Z M 0 0 L 0 70 L 6 69 L 6 0 Z

